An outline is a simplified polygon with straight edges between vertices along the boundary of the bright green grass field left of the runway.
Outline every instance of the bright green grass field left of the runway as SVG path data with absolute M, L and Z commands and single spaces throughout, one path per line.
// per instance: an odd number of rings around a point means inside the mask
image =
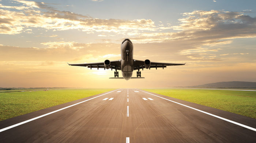
M 65 89 L 0 93 L 0 121 L 113 89 Z

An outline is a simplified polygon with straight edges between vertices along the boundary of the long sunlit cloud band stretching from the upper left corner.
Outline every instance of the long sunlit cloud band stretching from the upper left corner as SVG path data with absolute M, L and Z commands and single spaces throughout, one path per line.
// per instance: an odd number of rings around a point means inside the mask
M 131 32 L 134 30 L 156 31 L 150 19 L 97 19 L 69 11 L 59 11 L 47 3 L 16 0 L 20 6 L 0 4 L 0 34 L 19 34 L 27 28 L 41 27 L 47 30 L 80 30 L 85 32 Z M 14 10 L 16 9 L 16 10 Z

